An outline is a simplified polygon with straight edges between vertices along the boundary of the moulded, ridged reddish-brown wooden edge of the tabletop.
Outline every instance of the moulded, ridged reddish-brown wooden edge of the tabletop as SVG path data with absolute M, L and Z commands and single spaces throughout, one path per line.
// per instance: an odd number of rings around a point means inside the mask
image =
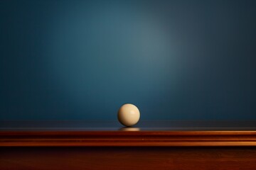
M 256 146 L 256 131 L 9 131 L 0 132 L 0 146 Z

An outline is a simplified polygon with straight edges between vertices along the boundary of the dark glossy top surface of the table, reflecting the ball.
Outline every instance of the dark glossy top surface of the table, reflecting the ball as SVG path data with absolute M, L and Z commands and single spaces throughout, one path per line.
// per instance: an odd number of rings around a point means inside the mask
M 0 131 L 212 131 L 256 130 L 256 120 L 142 120 L 124 127 L 117 120 L 10 120 Z

